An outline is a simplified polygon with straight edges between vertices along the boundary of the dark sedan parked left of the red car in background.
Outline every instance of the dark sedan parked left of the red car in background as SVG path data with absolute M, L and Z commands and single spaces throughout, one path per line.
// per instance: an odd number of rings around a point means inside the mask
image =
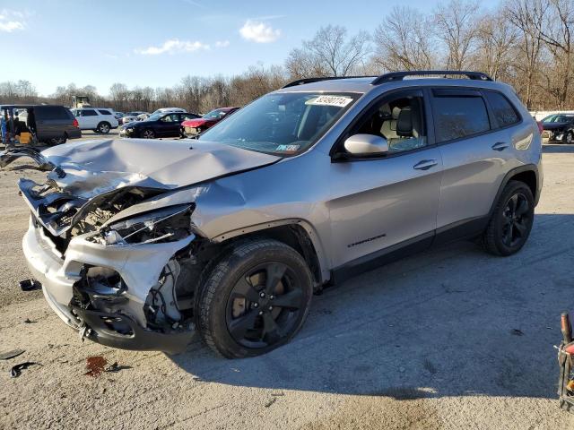
M 181 123 L 196 117 L 198 115 L 188 113 L 154 114 L 145 121 L 122 125 L 119 129 L 119 135 L 122 137 L 143 137 L 144 139 L 178 137 Z

